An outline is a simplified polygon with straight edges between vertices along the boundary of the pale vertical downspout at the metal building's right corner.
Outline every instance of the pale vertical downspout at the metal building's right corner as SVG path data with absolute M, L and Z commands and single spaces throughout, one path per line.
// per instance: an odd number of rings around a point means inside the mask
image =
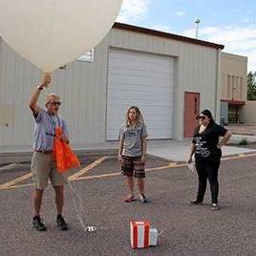
M 215 77 L 215 102 L 214 102 L 214 119 L 217 123 L 220 122 L 220 73 L 221 73 L 221 54 L 222 50 L 218 49 L 216 52 L 216 77 Z M 219 113 L 219 114 L 218 114 Z

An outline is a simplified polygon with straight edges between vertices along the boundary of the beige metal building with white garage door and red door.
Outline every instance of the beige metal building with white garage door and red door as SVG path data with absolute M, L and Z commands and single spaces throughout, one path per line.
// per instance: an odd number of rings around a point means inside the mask
M 116 140 L 138 105 L 150 139 L 191 137 L 200 109 L 220 110 L 222 45 L 116 23 L 87 57 L 53 73 L 41 95 L 58 93 L 74 144 Z M 28 100 L 41 77 L 0 38 L 0 145 L 31 145 Z

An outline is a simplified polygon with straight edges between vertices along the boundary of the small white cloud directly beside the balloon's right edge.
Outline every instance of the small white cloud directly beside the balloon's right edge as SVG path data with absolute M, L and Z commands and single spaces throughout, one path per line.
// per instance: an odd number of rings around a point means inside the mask
M 117 22 L 133 23 L 146 17 L 151 0 L 124 0 Z

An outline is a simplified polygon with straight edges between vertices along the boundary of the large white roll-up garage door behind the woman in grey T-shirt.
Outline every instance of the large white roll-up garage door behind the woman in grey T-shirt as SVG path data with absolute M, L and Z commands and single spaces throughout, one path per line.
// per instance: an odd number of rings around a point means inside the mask
M 149 139 L 173 138 L 174 58 L 111 49 L 107 140 L 116 140 L 128 107 L 139 107 Z

